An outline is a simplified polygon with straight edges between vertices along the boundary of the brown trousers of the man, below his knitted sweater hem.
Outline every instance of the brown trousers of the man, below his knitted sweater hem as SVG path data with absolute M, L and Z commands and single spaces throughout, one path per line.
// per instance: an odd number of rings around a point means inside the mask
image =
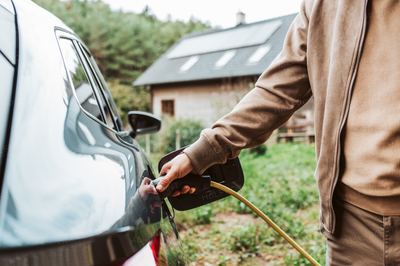
M 333 197 L 334 234 L 320 227 L 326 242 L 326 266 L 399 266 L 400 216 L 382 216 Z

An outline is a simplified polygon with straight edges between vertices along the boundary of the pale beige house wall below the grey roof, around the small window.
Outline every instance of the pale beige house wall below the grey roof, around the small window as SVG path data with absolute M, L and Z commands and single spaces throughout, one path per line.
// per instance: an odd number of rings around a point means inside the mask
M 210 128 L 254 88 L 254 78 L 152 85 L 152 112 L 162 116 L 161 101 L 174 100 L 176 118 L 202 120 Z

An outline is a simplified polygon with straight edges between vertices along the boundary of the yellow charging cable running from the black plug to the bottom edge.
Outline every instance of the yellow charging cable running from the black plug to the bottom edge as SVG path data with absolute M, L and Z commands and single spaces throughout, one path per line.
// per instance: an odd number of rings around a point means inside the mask
M 239 193 L 237 193 L 236 191 L 233 191 L 232 189 L 230 189 L 228 187 L 225 187 L 224 185 L 215 183 L 213 181 L 211 181 L 211 186 L 221 189 L 222 191 L 225 191 L 226 193 L 229 193 L 230 195 L 234 196 L 236 199 L 242 201 L 244 204 L 246 204 L 247 207 L 252 209 L 258 216 L 260 216 L 264 221 L 266 221 L 268 223 L 268 225 L 270 225 L 270 227 L 272 227 L 286 241 L 288 241 L 289 244 L 291 244 L 294 248 L 296 248 L 296 250 L 298 252 L 300 252 L 300 254 L 302 254 L 304 256 L 304 258 L 309 260 L 312 265 L 321 266 L 316 260 L 314 260 L 314 258 L 312 258 L 312 256 L 310 256 L 310 254 L 308 254 L 296 242 L 294 242 L 294 240 L 292 238 L 290 238 L 290 236 L 288 236 L 284 231 L 282 231 L 282 229 L 280 229 L 278 227 L 278 225 L 276 225 L 271 219 L 269 219 L 268 216 L 266 216 L 264 213 L 262 213 L 262 211 L 260 211 L 256 206 L 254 206 L 250 201 L 245 199 L 242 195 L 240 195 Z

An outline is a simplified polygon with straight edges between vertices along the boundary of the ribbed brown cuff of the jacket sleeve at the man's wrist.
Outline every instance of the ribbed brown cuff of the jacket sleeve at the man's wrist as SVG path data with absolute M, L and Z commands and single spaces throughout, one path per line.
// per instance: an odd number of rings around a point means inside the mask
M 183 152 L 189 157 L 199 175 L 213 164 L 222 163 L 220 156 L 218 156 L 218 151 L 203 134 Z

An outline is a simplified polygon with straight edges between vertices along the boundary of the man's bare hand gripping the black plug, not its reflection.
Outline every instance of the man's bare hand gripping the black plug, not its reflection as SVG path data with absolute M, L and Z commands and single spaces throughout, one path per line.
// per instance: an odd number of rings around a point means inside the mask
M 168 185 L 170 185 L 170 183 L 174 181 L 174 179 L 184 177 L 188 173 L 197 174 L 196 170 L 194 170 L 194 167 L 189 160 L 189 157 L 186 154 L 181 153 L 170 162 L 164 164 L 158 177 L 163 175 L 165 175 L 165 177 L 163 177 L 160 183 L 158 183 L 156 189 L 160 192 L 164 191 L 164 189 L 166 189 Z M 196 188 L 190 188 L 189 186 L 185 185 L 181 189 L 172 192 L 171 196 L 175 197 L 178 196 L 180 193 L 187 192 L 193 193 L 195 190 Z

